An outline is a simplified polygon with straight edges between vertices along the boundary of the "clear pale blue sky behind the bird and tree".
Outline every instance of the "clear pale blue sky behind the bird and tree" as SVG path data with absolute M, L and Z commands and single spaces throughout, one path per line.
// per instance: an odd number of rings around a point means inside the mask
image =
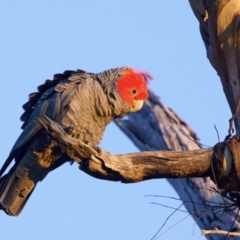
M 0 4 L 1 162 L 20 134 L 22 104 L 30 92 L 66 69 L 99 72 L 132 66 L 154 76 L 151 89 L 213 146 L 227 134 L 230 111 L 215 70 L 206 58 L 188 1 L 4 1 Z M 110 124 L 101 147 L 137 151 Z M 1 239 L 151 239 L 178 206 L 166 180 L 121 184 L 94 179 L 65 164 L 39 183 L 17 218 L 0 212 Z M 186 214 L 170 218 L 161 233 Z M 194 231 L 194 235 L 193 235 Z M 160 233 L 160 234 L 161 234 Z M 159 239 L 198 239 L 191 217 Z

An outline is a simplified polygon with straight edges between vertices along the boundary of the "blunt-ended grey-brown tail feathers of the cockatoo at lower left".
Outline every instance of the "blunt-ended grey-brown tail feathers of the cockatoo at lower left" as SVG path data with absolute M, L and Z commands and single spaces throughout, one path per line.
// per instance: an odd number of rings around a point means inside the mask
M 34 188 L 32 181 L 29 182 L 26 177 L 19 178 L 16 167 L 13 167 L 9 173 L 0 178 L 0 209 L 10 216 L 18 216 Z

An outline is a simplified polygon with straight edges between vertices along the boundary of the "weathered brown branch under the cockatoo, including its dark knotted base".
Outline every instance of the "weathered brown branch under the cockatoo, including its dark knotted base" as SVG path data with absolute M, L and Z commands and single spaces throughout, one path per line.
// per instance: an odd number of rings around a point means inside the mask
M 133 183 L 156 178 L 209 176 L 227 191 L 240 188 L 238 137 L 208 149 L 112 155 L 103 150 L 97 152 L 69 136 L 59 124 L 47 116 L 41 116 L 39 122 L 62 151 L 80 164 L 82 171 L 96 178 Z

